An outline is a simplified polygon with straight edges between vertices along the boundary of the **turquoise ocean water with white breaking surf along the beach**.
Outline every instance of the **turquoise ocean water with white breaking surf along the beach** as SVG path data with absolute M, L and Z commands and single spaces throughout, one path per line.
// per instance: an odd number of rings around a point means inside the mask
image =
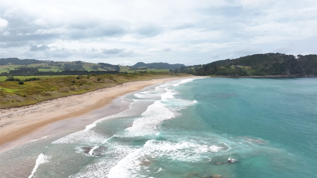
M 0 152 L 0 177 L 317 177 L 315 77 L 178 79 L 120 99 L 84 130 Z

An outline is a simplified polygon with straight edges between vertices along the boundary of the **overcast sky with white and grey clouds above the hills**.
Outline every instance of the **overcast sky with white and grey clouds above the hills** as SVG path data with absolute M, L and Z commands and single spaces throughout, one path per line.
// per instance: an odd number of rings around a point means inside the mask
M 316 54 L 316 0 L 0 0 L 0 58 L 206 64 Z

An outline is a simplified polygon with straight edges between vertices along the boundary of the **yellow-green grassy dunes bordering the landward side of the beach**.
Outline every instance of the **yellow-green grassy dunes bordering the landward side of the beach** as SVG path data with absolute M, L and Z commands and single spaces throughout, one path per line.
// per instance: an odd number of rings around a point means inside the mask
M 40 101 L 115 86 L 128 81 L 183 77 L 178 73 L 91 74 L 88 76 L 16 76 L 18 79 L 40 78 L 24 82 L 0 81 L 0 108 L 35 104 Z M 41 78 L 42 77 L 42 78 Z

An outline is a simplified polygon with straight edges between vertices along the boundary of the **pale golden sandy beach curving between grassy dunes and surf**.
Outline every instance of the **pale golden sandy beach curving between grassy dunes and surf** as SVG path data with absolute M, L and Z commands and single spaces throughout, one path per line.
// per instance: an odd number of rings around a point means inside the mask
M 30 135 L 36 130 L 41 130 L 45 125 L 85 115 L 110 104 L 113 99 L 124 94 L 168 80 L 193 77 L 195 76 L 131 81 L 79 95 L 43 101 L 35 105 L 0 109 L 0 151 L 34 139 Z M 9 142 L 11 144 L 6 144 Z

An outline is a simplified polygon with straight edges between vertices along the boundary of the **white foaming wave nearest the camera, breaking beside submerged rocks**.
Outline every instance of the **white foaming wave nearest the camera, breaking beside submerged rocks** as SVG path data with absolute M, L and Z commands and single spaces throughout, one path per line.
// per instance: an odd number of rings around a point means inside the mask
M 223 148 L 215 145 L 210 146 L 186 141 L 170 142 L 152 139 L 147 141 L 142 148 L 129 153 L 125 158 L 120 160 L 118 164 L 109 171 L 108 177 L 142 177 L 143 175 L 140 175 L 140 173 L 146 172 L 151 166 L 151 160 L 159 158 L 168 158 L 175 162 L 208 162 L 210 161 L 210 154 L 218 152 L 221 149 Z M 153 169 L 152 166 L 151 168 Z M 154 168 L 158 169 L 158 171 L 154 173 L 166 171 L 162 167 Z

